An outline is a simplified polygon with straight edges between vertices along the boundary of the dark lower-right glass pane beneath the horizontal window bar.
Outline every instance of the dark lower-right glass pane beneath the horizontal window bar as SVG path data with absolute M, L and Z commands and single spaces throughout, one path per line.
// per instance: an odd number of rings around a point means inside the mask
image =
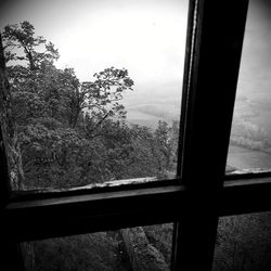
M 271 212 L 221 218 L 212 270 L 271 270 Z

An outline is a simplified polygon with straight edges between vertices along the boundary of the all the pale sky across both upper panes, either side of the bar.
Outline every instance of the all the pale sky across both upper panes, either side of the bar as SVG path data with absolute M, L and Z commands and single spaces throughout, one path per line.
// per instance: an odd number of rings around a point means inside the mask
M 2 0 L 0 28 L 29 21 L 60 51 L 56 66 L 91 80 L 106 67 L 127 68 L 130 108 L 179 115 L 189 0 Z M 230 14 L 229 14 L 230 20 Z M 210 52 L 211 53 L 211 52 Z M 237 95 L 269 98 L 271 1 L 250 0 Z M 169 113 L 169 116 L 171 113 Z

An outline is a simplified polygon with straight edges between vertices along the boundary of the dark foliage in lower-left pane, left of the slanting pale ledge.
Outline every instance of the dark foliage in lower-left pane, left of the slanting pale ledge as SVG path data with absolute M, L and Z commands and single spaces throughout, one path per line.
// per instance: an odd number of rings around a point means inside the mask
M 31 242 L 36 271 L 127 270 L 119 254 L 116 233 L 92 233 Z M 55 257 L 57 255 L 57 257 Z

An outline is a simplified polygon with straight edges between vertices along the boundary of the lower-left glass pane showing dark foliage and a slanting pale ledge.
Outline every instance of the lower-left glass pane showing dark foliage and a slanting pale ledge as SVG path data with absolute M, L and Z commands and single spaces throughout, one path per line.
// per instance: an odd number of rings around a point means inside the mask
M 22 244 L 26 270 L 170 270 L 172 224 L 137 227 Z

